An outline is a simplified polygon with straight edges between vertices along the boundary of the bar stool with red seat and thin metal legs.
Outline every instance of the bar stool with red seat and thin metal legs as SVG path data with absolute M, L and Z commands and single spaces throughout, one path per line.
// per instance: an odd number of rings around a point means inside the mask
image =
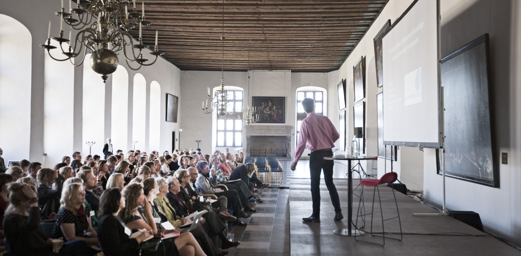
M 393 197 L 394 197 L 394 203 L 396 204 L 396 212 L 398 213 L 398 216 L 386 218 L 384 220 L 383 219 L 382 204 L 381 204 L 381 199 L 380 199 L 380 189 L 378 188 L 378 185 L 391 184 L 392 182 L 396 181 L 397 178 L 398 178 L 398 174 L 396 174 L 395 172 L 390 172 L 390 173 L 384 174 L 380 179 L 364 179 L 364 180 L 360 181 L 360 185 L 362 185 L 362 192 L 360 194 L 360 202 L 358 202 L 358 211 L 356 212 L 357 214 L 356 214 L 355 227 L 357 229 L 359 229 L 359 230 L 362 230 L 364 228 L 364 226 L 365 226 L 365 216 L 366 215 L 371 215 L 371 229 L 370 229 L 369 233 L 373 237 L 381 237 L 381 238 L 383 238 L 383 243 L 375 243 L 375 242 L 369 242 L 369 241 L 356 239 L 356 234 L 358 232 L 355 232 L 355 241 L 373 243 L 374 245 L 384 246 L 386 244 L 386 238 L 394 239 L 394 240 L 398 240 L 398 241 L 401 241 L 403 239 L 402 222 L 400 220 L 400 211 L 398 210 L 398 202 L 396 202 L 396 195 L 394 194 L 394 189 L 392 189 L 392 194 L 393 194 Z M 371 213 L 367 213 L 367 214 L 365 213 L 365 205 L 364 205 L 364 187 L 365 186 L 373 186 L 374 187 L 374 190 L 373 190 L 373 207 L 371 208 Z M 378 203 L 380 204 L 380 214 L 381 214 L 381 218 L 382 218 L 382 233 L 381 233 L 382 235 L 381 236 L 380 235 L 375 235 L 375 234 L 380 234 L 380 233 L 373 233 L 373 213 L 374 213 L 374 210 L 375 210 L 375 197 L 376 197 L 376 192 L 377 191 L 378 191 Z M 362 207 L 360 207 L 361 205 L 362 205 Z M 360 228 L 358 228 L 358 226 L 357 226 L 358 225 L 358 217 L 361 217 L 362 222 L 363 222 L 363 225 Z M 394 218 L 398 218 L 398 223 L 400 224 L 400 239 L 392 238 L 392 237 L 386 237 L 386 233 L 385 233 L 383 222 L 392 220 Z

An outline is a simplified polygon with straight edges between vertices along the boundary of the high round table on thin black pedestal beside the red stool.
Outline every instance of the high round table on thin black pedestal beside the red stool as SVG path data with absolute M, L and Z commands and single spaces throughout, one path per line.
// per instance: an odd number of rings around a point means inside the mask
M 352 229 L 352 217 L 353 217 L 353 177 L 351 176 L 351 161 L 352 160 L 374 160 L 376 156 L 351 156 L 351 155 L 334 155 L 334 156 L 325 156 L 325 160 L 348 160 L 348 228 L 336 229 L 333 230 L 334 234 L 341 236 L 353 236 L 354 232 L 357 230 Z M 357 234 L 358 235 L 358 234 Z

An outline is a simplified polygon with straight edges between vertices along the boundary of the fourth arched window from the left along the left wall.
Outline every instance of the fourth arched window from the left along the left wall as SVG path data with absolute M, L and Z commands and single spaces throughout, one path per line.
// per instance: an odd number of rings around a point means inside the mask
M 118 65 L 112 74 L 112 120 L 110 139 L 114 153 L 120 149 L 127 152 L 129 111 L 129 74 L 125 67 Z

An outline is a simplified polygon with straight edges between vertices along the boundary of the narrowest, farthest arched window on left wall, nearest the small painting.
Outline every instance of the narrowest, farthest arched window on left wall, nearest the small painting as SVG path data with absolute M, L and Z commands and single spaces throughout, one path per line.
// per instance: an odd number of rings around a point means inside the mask
M 161 133 L 161 87 L 156 81 L 150 83 L 150 150 L 160 150 L 160 133 Z

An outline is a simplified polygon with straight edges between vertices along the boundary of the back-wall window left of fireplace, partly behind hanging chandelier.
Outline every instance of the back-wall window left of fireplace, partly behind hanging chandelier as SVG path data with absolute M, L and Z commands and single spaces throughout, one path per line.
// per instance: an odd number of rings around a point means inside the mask
M 217 147 L 242 147 L 243 92 L 228 90 L 227 99 L 228 113 L 217 116 Z

